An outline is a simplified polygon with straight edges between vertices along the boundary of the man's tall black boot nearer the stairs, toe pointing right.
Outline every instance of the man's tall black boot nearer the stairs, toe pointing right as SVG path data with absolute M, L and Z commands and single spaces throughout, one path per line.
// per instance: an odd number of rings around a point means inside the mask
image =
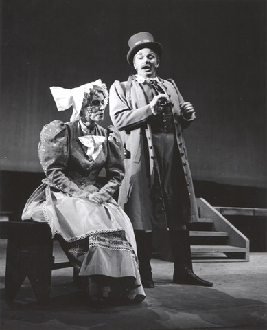
M 174 258 L 174 283 L 212 287 L 193 272 L 188 230 L 170 230 L 170 248 Z

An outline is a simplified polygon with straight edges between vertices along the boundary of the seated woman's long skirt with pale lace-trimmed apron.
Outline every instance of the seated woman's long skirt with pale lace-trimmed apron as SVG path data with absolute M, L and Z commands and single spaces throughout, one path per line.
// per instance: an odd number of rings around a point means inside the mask
M 132 224 L 114 199 L 97 204 L 41 184 L 23 210 L 22 220 L 30 219 L 47 222 L 52 237 L 60 235 L 79 276 L 89 276 L 105 298 L 146 297 Z

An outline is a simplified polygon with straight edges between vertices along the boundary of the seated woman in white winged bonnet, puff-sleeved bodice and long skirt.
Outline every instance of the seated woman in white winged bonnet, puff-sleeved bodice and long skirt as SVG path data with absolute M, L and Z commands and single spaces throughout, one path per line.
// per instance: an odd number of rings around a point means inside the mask
M 124 151 L 113 126 L 97 124 L 108 103 L 97 80 L 73 89 L 51 87 L 58 111 L 73 107 L 70 122 L 54 120 L 40 133 L 38 155 L 46 178 L 23 210 L 23 221 L 46 221 L 52 236 L 88 278 L 89 303 L 145 298 L 130 219 L 112 198 L 124 177 Z M 106 169 L 106 184 L 99 183 Z

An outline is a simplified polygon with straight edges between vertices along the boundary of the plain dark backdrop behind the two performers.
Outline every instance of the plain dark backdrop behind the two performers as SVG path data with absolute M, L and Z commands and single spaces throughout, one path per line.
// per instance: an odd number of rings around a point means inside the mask
M 126 80 L 128 38 L 150 31 L 197 120 L 186 132 L 195 180 L 266 186 L 266 1 L 3 0 L 0 170 L 41 172 L 52 85 Z M 104 126 L 110 123 L 108 109 Z

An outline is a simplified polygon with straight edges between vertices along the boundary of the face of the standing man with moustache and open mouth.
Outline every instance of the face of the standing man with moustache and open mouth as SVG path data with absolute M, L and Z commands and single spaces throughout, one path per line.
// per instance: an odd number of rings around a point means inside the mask
M 143 78 L 154 78 L 159 65 L 156 53 L 150 48 L 143 48 L 135 54 L 134 66 L 137 74 Z

